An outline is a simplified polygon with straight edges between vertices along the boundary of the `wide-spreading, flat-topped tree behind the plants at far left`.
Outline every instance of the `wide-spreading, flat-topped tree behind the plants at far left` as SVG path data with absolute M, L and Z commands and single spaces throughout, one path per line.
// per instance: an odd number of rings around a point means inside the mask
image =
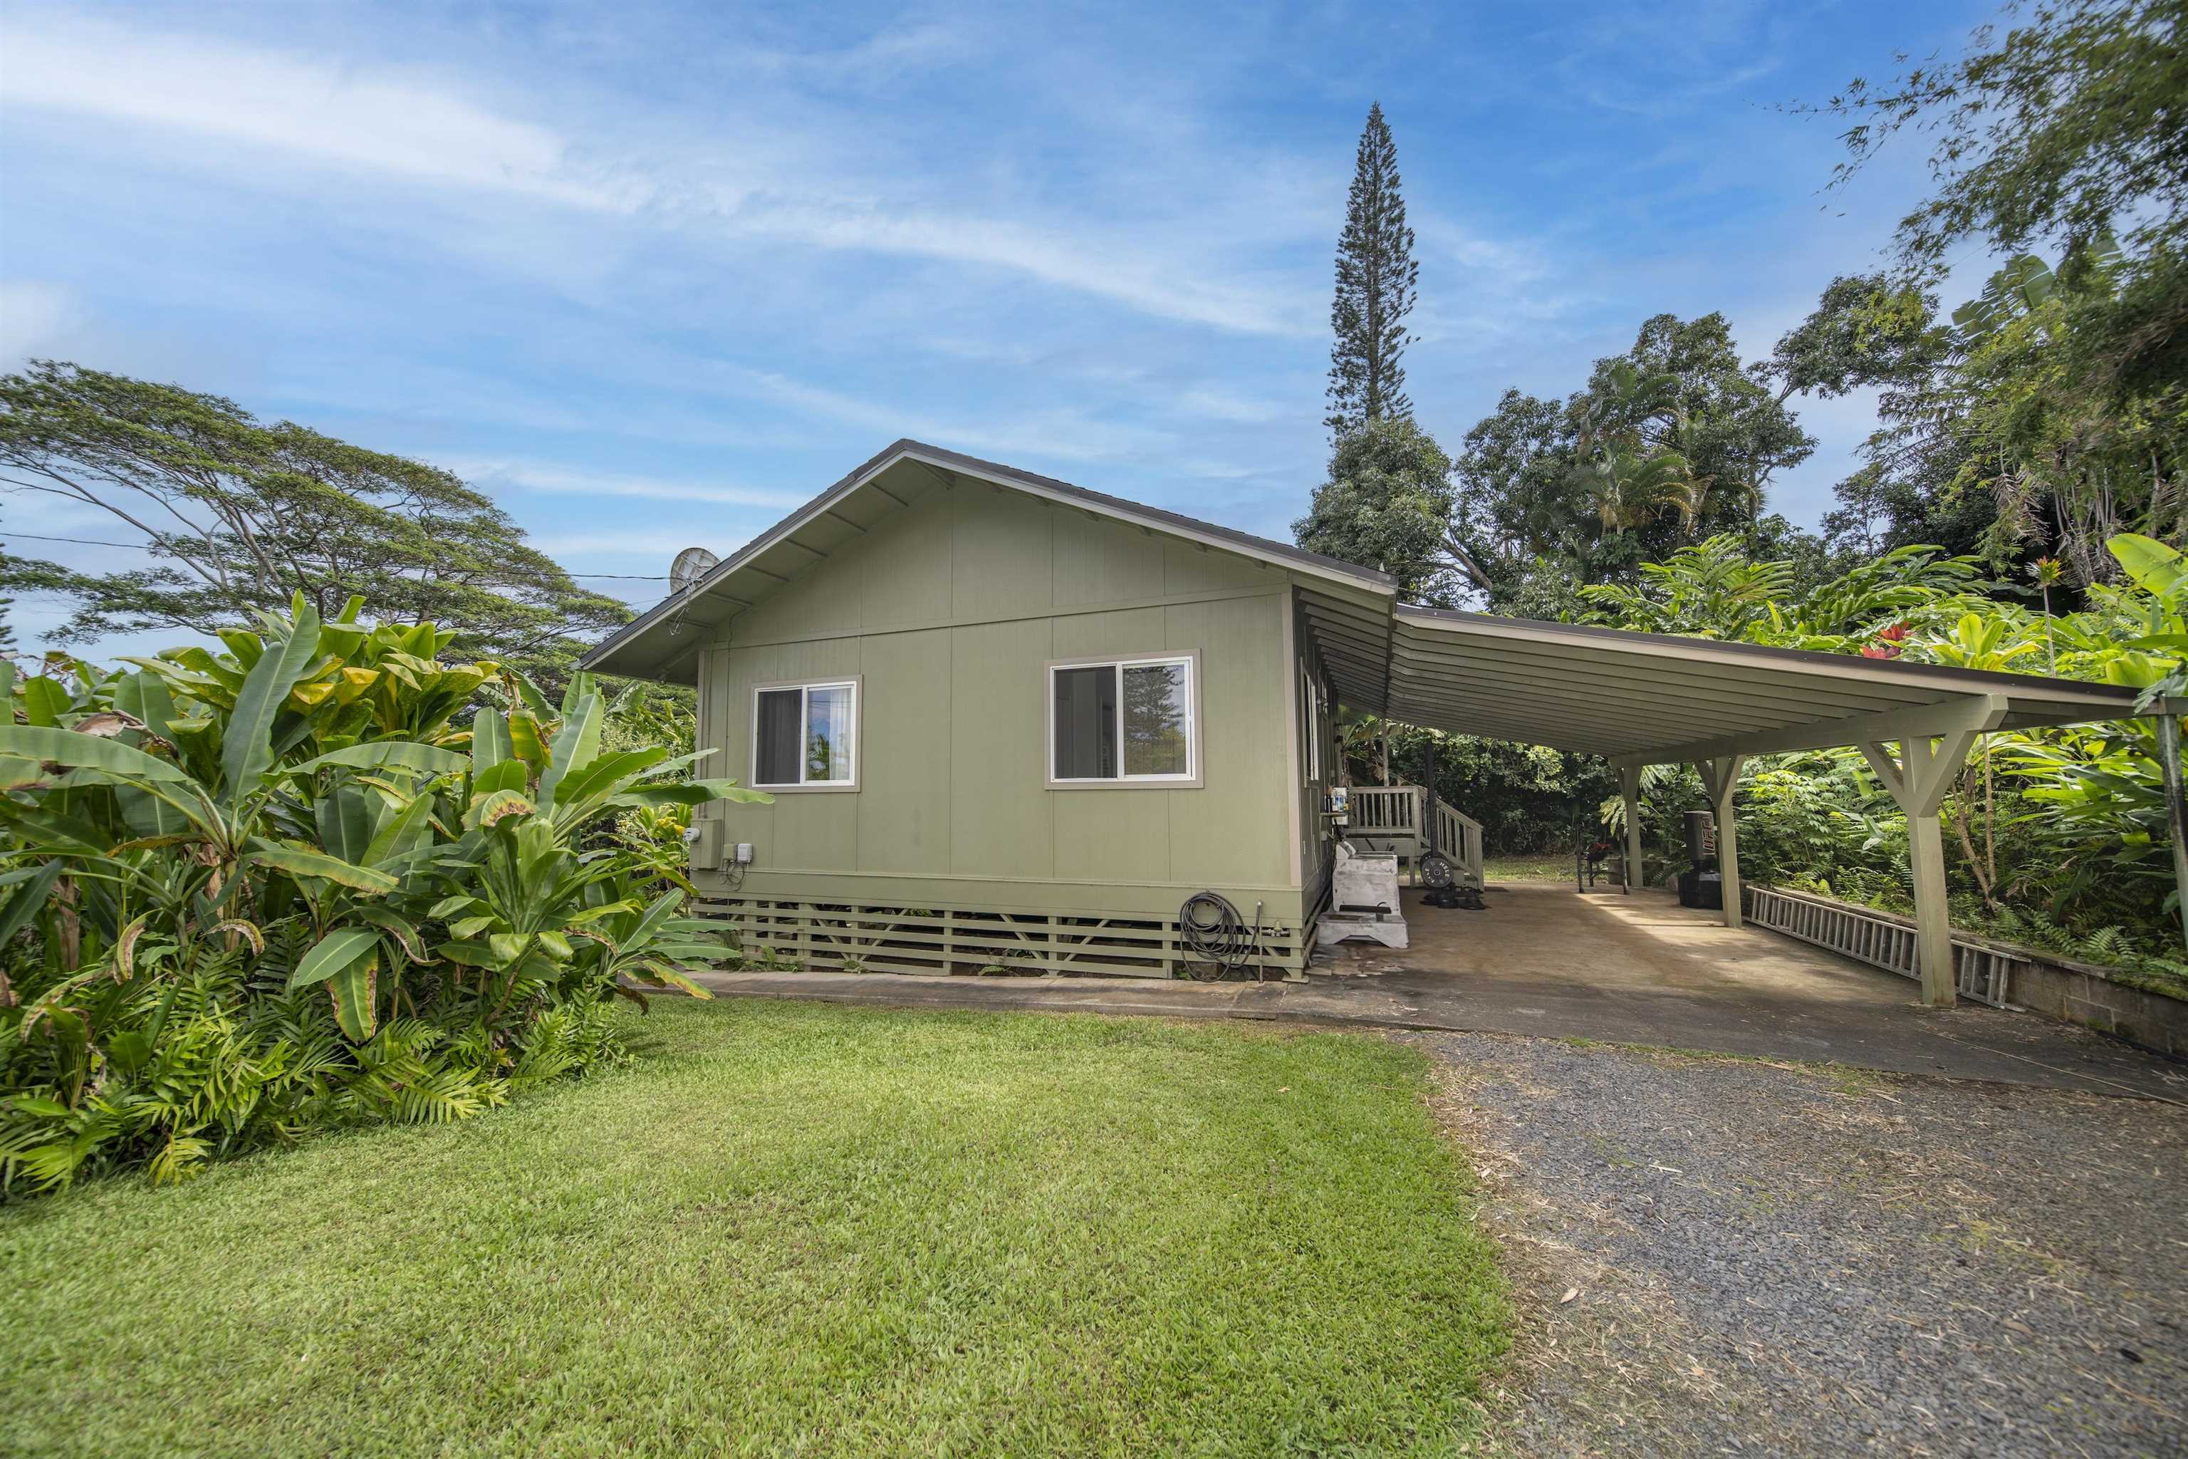
M 457 652 L 540 663 L 630 617 L 453 472 L 179 385 L 57 361 L 0 376 L 0 481 L 103 512 L 149 553 L 116 573 L 0 564 L 0 586 L 77 599 L 63 641 L 363 595 L 383 621 L 453 630 Z

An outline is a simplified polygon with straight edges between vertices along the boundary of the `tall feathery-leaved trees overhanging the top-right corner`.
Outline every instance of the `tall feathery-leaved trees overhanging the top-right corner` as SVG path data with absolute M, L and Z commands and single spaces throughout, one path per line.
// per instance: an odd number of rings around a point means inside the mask
M 2076 586 L 2116 575 L 2116 532 L 2188 536 L 2181 96 L 2188 0 L 2063 0 L 1809 107 L 1849 122 L 1838 182 L 1899 133 L 1930 140 L 1934 179 L 1895 276 L 1834 282 L 1781 343 L 1785 378 L 1807 367 L 1820 394 L 1838 376 L 1818 341 L 1886 343 L 1849 376 L 1882 389 L 1882 422 L 1840 486 L 1844 540 L 1939 540 L 2015 573 L 2057 558 Z M 2004 267 L 1945 324 L 1936 293 L 1969 245 Z

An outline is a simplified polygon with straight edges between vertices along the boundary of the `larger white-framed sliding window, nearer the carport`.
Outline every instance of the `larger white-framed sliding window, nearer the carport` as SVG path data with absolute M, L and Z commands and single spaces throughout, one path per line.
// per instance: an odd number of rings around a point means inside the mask
M 1199 656 L 1048 665 L 1048 783 L 1199 785 Z

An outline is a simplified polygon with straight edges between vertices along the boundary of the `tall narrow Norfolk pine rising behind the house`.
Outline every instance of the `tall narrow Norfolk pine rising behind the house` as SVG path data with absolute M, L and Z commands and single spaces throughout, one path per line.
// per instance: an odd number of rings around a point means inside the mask
M 1352 195 L 1346 199 L 1346 232 L 1337 241 L 1337 297 L 1330 302 L 1330 435 L 1343 440 L 1370 420 L 1405 420 L 1413 402 L 1405 398 L 1398 357 L 1413 341 L 1405 317 L 1413 313 L 1413 230 L 1405 225 L 1398 192 L 1398 149 L 1383 120 L 1383 103 L 1368 107 Z

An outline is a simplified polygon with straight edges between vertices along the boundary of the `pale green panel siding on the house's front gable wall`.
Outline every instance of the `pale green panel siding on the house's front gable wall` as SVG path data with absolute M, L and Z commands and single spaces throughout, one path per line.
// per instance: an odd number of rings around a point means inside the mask
M 1247 558 L 985 486 L 919 499 L 700 658 L 709 772 L 740 781 L 755 685 L 862 680 L 856 792 L 722 809 L 755 844 L 744 890 L 1127 914 L 1210 886 L 1295 919 L 1291 610 L 1284 571 Z M 1044 785 L 1050 661 L 1186 650 L 1199 787 Z

